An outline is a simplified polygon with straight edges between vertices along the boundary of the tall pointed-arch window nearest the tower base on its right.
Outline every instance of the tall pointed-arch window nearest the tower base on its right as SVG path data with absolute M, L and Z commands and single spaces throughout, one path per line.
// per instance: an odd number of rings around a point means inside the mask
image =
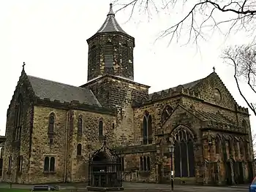
M 146 112 L 143 118 L 143 145 L 151 144 L 153 141 L 152 117 Z

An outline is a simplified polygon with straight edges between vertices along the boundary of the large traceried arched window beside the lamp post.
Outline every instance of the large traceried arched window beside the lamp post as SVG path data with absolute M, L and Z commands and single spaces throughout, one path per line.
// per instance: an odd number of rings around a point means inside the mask
M 173 131 L 176 177 L 195 177 L 194 139 L 192 131 L 180 126 Z

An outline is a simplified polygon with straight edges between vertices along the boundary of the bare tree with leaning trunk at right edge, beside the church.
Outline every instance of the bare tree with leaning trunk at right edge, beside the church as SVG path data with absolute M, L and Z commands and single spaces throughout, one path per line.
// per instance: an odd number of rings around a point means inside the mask
M 227 64 L 233 66 L 234 78 L 238 91 L 249 109 L 256 115 L 255 104 L 249 101 L 244 95 L 239 85 L 239 79 L 245 80 L 249 89 L 256 96 L 256 46 L 255 45 L 241 45 L 235 47 L 228 47 L 224 50 L 222 58 Z

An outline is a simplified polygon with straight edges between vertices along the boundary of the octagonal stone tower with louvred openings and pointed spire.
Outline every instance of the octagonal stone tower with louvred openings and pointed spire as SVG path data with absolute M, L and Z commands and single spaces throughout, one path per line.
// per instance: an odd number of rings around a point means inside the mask
M 89 45 L 88 81 L 105 74 L 134 80 L 135 39 L 117 23 L 112 4 L 105 22 L 94 36 L 87 39 L 87 43 Z

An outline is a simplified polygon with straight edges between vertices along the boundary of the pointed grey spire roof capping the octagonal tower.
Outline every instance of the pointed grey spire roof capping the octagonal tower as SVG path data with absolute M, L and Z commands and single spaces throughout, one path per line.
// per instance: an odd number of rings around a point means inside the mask
M 121 32 L 123 34 L 127 34 L 121 26 L 116 21 L 115 13 L 112 9 L 112 4 L 110 4 L 110 10 L 108 12 L 107 18 L 101 28 L 97 31 L 97 33 L 106 33 L 106 32 Z

